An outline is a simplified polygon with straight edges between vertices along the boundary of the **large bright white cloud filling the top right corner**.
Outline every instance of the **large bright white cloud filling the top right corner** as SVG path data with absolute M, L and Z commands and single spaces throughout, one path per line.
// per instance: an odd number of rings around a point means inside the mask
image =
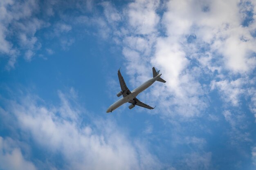
M 190 1 L 172 0 L 168 2 L 162 24 L 172 39 L 194 33 L 198 41 L 206 42 L 211 52 L 218 51 L 224 57 L 224 66 L 234 73 L 251 71 L 256 66 L 255 38 L 248 27 L 241 26 L 244 4 L 240 1 Z M 204 11 L 207 7 L 208 11 Z

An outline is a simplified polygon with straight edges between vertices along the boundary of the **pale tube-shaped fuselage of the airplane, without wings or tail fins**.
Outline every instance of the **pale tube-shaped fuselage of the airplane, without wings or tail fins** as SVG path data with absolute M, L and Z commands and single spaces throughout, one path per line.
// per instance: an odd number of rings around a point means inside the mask
M 117 100 L 117 102 L 113 103 L 111 106 L 109 106 L 107 113 L 112 112 L 119 106 L 129 102 L 130 100 L 134 99 L 139 93 L 146 90 L 149 86 L 151 86 L 162 74 L 157 75 L 156 77 L 153 77 L 146 81 L 145 83 L 141 84 L 141 86 L 135 88 L 133 91 L 131 91 L 131 94 L 127 95 L 126 97 L 122 97 L 121 99 Z

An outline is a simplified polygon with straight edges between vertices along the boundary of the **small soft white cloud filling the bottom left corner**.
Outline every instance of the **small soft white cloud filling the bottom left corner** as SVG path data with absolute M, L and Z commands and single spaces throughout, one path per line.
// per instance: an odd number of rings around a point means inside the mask
M 0 137 L 0 169 L 3 170 L 36 170 L 30 161 L 22 155 L 20 148 L 13 145 L 15 142 Z

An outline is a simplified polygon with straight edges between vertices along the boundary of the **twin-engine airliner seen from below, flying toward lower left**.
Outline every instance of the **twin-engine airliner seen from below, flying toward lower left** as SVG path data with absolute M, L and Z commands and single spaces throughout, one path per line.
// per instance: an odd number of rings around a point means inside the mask
M 121 95 L 123 95 L 123 97 L 119 99 L 117 102 L 115 102 L 114 104 L 112 104 L 111 106 L 109 106 L 107 113 L 112 112 L 113 110 L 117 109 L 119 106 L 127 102 L 130 103 L 129 109 L 134 108 L 135 105 L 148 108 L 148 109 L 154 109 L 153 107 L 142 103 L 141 101 L 139 101 L 139 99 L 136 98 L 136 96 L 139 95 L 139 93 L 146 90 L 146 88 L 151 86 L 155 81 L 163 82 L 163 83 L 166 82 L 164 79 L 160 77 L 162 75 L 162 74 L 159 74 L 160 70 L 156 71 L 155 67 L 153 67 L 152 70 L 153 70 L 153 78 L 149 79 L 148 81 L 143 83 L 141 86 L 135 88 L 133 91 L 130 91 L 126 86 L 126 83 L 124 82 L 124 77 L 121 75 L 120 68 L 119 68 L 117 75 L 119 78 L 121 91 L 117 93 L 117 97 L 120 97 Z

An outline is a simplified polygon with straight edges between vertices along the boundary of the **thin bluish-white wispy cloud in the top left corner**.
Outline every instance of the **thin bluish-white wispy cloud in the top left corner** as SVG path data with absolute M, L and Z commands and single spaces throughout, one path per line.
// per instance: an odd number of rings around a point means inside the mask
M 7 69 L 13 68 L 19 49 L 13 47 L 11 38 L 18 37 L 18 43 L 21 49 L 33 50 L 40 48 L 35 32 L 40 29 L 42 22 L 33 18 L 33 13 L 38 12 L 38 3 L 36 0 L 27 0 L 25 2 L 14 2 L 7 0 L 0 3 L 0 53 L 9 57 Z

